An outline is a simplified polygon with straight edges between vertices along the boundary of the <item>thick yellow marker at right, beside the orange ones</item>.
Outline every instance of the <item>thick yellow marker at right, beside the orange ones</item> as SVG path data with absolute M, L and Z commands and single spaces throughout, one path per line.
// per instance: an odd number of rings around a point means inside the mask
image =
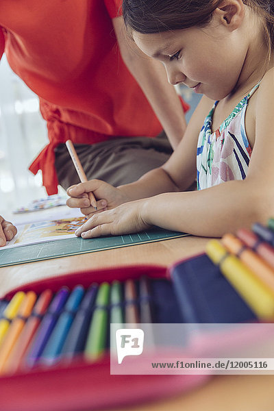
M 214 264 L 219 264 L 227 280 L 259 319 L 273 319 L 274 291 L 266 286 L 236 256 L 227 252 L 218 240 L 210 240 L 206 253 Z

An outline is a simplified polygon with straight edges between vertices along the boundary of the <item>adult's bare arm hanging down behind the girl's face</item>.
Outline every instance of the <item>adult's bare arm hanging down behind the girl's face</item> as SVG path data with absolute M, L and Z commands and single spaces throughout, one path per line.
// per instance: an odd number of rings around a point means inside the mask
M 112 19 L 123 61 L 147 97 L 173 149 L 184 136 L 186 119 L 177 92 L 169 84 L 162 63 L 142 53 L 126 34 L 123 17 Z

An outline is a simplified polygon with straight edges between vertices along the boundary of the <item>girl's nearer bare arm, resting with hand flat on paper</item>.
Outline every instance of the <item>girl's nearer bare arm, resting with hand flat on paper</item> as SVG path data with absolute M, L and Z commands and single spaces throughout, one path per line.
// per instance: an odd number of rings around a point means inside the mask
M 158 225 L 198 236 L 222 236 L 255 221 L 266 223 L 274 216 L 273 75 L 274 69 L 266 73 L 257 91 L 256 141 L 245 180 L 122 204 L 93 216 L 77 235 L 123 234 Z

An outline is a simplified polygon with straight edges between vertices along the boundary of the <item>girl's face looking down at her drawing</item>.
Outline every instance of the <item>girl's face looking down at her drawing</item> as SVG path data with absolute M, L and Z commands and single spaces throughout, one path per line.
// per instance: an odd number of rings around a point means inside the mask
M 207 27 L 134 32 L 133 37 L 145 54 L 164 64 L 171 84 L 183 83 L 213 100 L 223 99 L 238 85 L 249 49 L 240 29 L 231 31 L 214 18 Z

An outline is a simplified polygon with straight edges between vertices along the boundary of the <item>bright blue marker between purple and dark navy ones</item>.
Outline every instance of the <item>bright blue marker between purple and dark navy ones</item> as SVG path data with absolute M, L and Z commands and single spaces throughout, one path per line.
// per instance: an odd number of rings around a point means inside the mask
M 73 288 L 71 295 L 66 301 L 64 310 L 60 314 L 60 317 L 53 329 L 53 332 L 49 337 L 47 345 L 44 351 L 42 351 L 42 355 L 40 357 L 40 360 L 42 362 L 45 362 L 46 364 L 50 365 L 56 362 L 60 357 L 60 353 L 64 345 L 64 340 L 66 339 L 69 329 L 71 328 L 75 312 L 79 307 L 79 303 L 81 302 L 83 295 L 83 286 L 76 286 L 75 288 Z

